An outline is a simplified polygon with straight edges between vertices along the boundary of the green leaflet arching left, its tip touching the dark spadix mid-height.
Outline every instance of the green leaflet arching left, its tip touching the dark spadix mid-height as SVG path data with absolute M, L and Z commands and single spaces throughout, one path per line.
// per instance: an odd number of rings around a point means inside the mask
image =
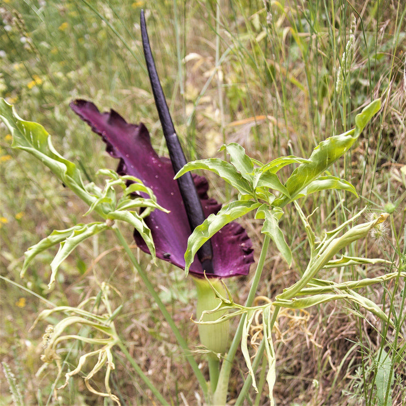
M 253 194 L 250 183 L 236 170 L 235 166 L 219 158 L 200 159 L 188 162 L 175 175 L 175 179 L 181 177 L 186 172 L 197 169 L 214 172 L 242 194 Z

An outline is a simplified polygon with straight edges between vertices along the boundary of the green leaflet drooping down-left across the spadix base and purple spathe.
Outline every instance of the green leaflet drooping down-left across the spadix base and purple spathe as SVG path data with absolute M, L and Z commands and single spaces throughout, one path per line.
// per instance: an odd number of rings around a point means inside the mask
M 207 240 L 226 224 L 244 216 L 259 206 L 261 206 L 260 203 L 251 200 L 232 201 L 228 205 L 223 206 L 217 214 L 211 214 L 202 224 L 197 226 L 187 241 L 187 250 L 185 253 L 186 275 L 188 274 L 189 267 L 193 262 L 196 252 Z

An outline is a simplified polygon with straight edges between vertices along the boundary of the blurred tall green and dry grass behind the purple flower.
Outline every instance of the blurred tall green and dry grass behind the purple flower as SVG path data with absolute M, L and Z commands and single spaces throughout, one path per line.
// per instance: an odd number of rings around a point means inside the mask
M 365 205 L 391 213 L 390 229 L 371 235 L 373 241 L 354 244 L 348 255 L 382 257 L 392 261 L 393 268 L 329 269 L 323 278 L 341 282 L 404 269 L 406 182 L 400 168 L 406 160 L 406 10 L 401 1 L 3 2 L 2 96 L 18 105 L 21 117 L 52 130 L 58 150 L 78 162 L 89 178 L 95 168 L 116 163 L 69 110 L 75 97 L 92 99 L 104 110 L 113 108 L 131 122 L 144 122 L 155 149 L 165 153 L 142 56 L 141 7 L 146 9 L 171 114 L 191 159 L 222 157 L 217 150 L 224 142 L 240 143 L 262 162 L 285 154 L 308 156 L 326 134 L 351 128 L 357 108 L 382 96 L 381 114 L 345 161 L 332 168 L 333 175 L 356 186 L 360 197 L 321 192 L 303 201 L 302 210 L 309 215 L 319 208 L 319 215 L 310 220 L 319 235 Z M 86 209 L 40 163 L 10 148 L 4 126 L 0 133 L 0 350 L 14 371 L 25 404 L 58 404 L 53 396 L 56 368 L 37 374 L 46 326 L 44 331 L 27 332 L 48 306 L 40 297 L 55 306 L 76 306 L 96 295 L 105 280 L 116 288 L 111 300 L 124 305 L 120 331 L 144 371 L 174 404 L 198 403 L 188 365 L 112 236 L 96 237 L 73 254 L 51 291 L 47 282 L 52 253 L 39 257 L 20 280 L 24 251 L 52 229 L 77 222 Z M 233 197 L 218 179 L 210 180 L 211 194 L 218 200 Z M 290 210 L 293 214 L 294 208 Z M 309 258 L 308 247 L 300 244 L 304 230 L 295 216 L 283 221 L 287 240 L 299 247 L 293 253 L 294 265 L 286 269 L 270 248 L 258 295 L 274 297 L 281 292 L 303 273 Z M 245 226 L 259 255 L 260 225 L 246 219 Z M 126 236 L 131 241 L 131 230 Z M 147 257 L 137 255 L 147 269 L 152 267 Z M 193 345 L 197 329 L 189 322 L 194 309 L 189 282 L 166 264 L 153 269 L 152 281 L 161 299 Z M 231 282 L 231 288 L 243 302 L 249 283 Z M 406 404 L 405 347 L 396 339 L 396 332 L 406 334 L 402 289 L 404 281 L 396 280 L 363 292 L 392 314 L 394 329 L 350 305 L 320 306 L 303 318 L 281 317 L 275 348 L 278 404 L 390 404 L 390 389 L 392 404 Z M 77 347 L 69 349 L 68 356 L 64 353 L 64 367 L 74 365 L 81 351 Z M 246 370 L 240 358 L 230 399 L 238 397 Z M 122 359 L 111 387 L 124 404 L 148 404 L 148 388 L 134 379 Z M 387 374 L 383 378 L 378 373 L 382 370 Z M 391 377 L 393 383 L 388 385 Z M 94 380 L 97 386 L 97 376 Z M 10 403 L 7 385 L 0 393 L 0 399 Z M 67 404 L 97 401 L 79 384 L 59 395 Z M 266 391 L 250 396 L 247 404 L 267 402 Z

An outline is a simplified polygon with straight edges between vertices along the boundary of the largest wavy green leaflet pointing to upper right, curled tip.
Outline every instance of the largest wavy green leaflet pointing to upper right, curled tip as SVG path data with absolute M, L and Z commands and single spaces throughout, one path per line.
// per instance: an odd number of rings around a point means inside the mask
M 301 190 L 316 180 L 332 163 L 344 155 L 359 137 L 366 123 L 379 111 L 381 100 L 375 100 L 365 107 L 355 118 L 356 127 L 350 131 L 322 141 L 312 152 L 310 162 L 301 163 L 286 181 L 291 199 L 298 197 Z M 262 168 L 263 169 L 263 168 Z M 275 206 L 283 207 L 291 201 L 282 197 L 274 201 Z

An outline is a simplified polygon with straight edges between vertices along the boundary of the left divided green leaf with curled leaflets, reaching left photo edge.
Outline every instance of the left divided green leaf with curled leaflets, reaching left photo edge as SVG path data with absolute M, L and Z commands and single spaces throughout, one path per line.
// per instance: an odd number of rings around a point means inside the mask
M 141 183 L 141 180 L 133 176 L 120 177 L 115 171 L 102 169 L 99 175 L 107 176 L 104 189 L 100 189 L 94 183 L 84 185 L 80 171 L 76 165 L 61 156 L 53 147 L 51 137 L 45 128 L 35 122 L 22 120 L 4 99 L 0 98 L 0 118 L 9 127 L 13 142 L 12 147 L 21 149 L 35 156 L 56 175 L 62 183 L 72 189 L 89 206 L 85 215 L 92 211 L 97 212 L 105 220 L 122 220 L 130 223 L 139 231 L 145 239 L 146 246 L 155 260 L 155 248 L 152 242 L 151 230 L 145 224 L 143 217 L 149 215 L 154 209 L 168 213 L 156 203 L 156 197 L 152 190 Z M 123 196 L 118 199 L 114 186 L 123 189 Z M 146 193 L 141 197 L 138 193 Z M 129 212 L 128 209 L 146 208 L 141 215 Z M 60 244 L 59 250 L 51 262 L 51 279 L 49 286 L 55 281 L 56 273 L 61 262 L 84 240 L 102 230 L 109 228 L 105 222 L 90 224 L 77 224 L 66 230 L 53 231 L 46 239 L 32 246 L 25 253 L 26 258 L 21 270 L 23 277 L 29 263 L 40 252 Z

